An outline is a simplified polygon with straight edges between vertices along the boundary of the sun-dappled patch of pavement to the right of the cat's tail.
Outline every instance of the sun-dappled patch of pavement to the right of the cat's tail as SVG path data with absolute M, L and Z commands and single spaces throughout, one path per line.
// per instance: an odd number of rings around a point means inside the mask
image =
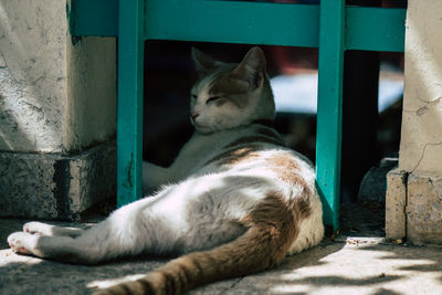
M 323 242 L 277 270 L 241 278 L 234 293 L 441 294 L 441 274 L 439 247 Z

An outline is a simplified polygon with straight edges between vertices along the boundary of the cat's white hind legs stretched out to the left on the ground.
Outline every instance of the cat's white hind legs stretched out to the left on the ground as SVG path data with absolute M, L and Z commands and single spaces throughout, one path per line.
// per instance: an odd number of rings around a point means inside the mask
M 76 229 L 53 228 L 35 222 L 25 225 L 24 230 L 70 234 L 48 236 L 23 231 L 9 235 L 8 243 L 14 252 L 21 254 L 81 264 L 96 264 L 123 255 L 137 255 L 151 249 L 149 236 L 156 226 L 150 214 L 145 215 L 144 211 L 155 200 L 155 197 L 145 198 L 127 204 L 77 236 L 72 234 L 77 233 Z

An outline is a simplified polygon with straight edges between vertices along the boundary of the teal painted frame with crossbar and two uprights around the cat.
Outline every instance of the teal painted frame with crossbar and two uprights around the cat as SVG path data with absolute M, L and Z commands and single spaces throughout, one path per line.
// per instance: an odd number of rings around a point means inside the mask
M 146 40 L 319 48 L 316 172 L 324 222 L 338 229 L 346 50 L 402 52 L 404 9 L 217 0 L 72 0 L 72 35 L 118 36 L 117 204 L 141 197 Z M 225 20 L 229 20 L 228 22 Z

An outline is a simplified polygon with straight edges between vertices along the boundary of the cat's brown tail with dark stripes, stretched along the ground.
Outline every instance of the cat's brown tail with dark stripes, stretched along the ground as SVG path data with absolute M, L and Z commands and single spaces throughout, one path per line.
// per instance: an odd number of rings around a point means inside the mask
M 269 196 L 242 220 L 249 229 L 236 240 L 183 255 L 143 278 L 97 294 L 180 294 L 206 283 L 272 268 L 284 259 L 299 232 L 299 218 L 307 213 L 294 208 L 299 206 L 287 207 L 277 194 Z

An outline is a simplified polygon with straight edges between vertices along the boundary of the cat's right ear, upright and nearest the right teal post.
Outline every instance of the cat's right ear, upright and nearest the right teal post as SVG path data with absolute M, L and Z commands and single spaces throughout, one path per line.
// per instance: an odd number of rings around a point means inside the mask
M 261 87 L 265 77 L 264 52 L 259 46 L 249 50 L 232 74 L 240 80 L 246 81 L 253 89 Z

